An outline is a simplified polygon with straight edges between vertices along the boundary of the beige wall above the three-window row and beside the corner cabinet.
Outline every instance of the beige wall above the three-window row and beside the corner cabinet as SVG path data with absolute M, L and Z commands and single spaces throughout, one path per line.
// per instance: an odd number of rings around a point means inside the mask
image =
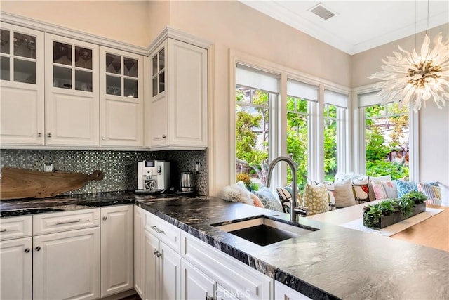
M 209 157 L 215 169 L 210 193 L 216 195 L 234 172 L 229 162 L 229 49 L 349 86 L 350 56 L 238 1 L 173 1 L 170 25 L 213 41 L 213 125 Z

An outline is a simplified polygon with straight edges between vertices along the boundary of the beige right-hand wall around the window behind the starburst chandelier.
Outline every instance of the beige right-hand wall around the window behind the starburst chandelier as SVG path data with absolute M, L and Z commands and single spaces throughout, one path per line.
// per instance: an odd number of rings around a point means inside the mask
M 432 28 L 429 36 L 432 39 L 443 32 L 443 38 L 448 39 L 449 23 Z M 351 86 L 353 88 L 373 84 L 375 79 L 368 79 L 370 74 L 380 71 L 382 58 L 394 56 L 393 51 L 399 51 L 398 45 L 407 51 L 417 48 L 420 51 L 424 32 L 405 39 L 391 42 L 377 48 L 358 53 L 351 58 Z M 431 44 L 433 48 L 433 44 Z M 446 99 L 449 100 L 449 99 Z M 419 112 L 419 161 L 420 181 L 441 181 L 449 185 L 449 102 L 443 110 L 439 110 L 431 100 L 427 101 Z

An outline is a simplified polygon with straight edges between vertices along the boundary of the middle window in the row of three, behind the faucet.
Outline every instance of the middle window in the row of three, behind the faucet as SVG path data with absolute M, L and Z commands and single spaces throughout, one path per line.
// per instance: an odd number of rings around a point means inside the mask
M 287 155 L 297 165 L 297 185 L 302 190 L 314 166 L 311 149 L 316 143 L 318 86 L 288 79 L 287 93 Z M 287 183 L 291 182 L 292 174 L 287 169 Z

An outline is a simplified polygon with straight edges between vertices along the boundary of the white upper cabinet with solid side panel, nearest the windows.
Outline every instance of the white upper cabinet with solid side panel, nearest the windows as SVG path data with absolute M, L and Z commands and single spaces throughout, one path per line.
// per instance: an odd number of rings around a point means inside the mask
M 201 150 L 208 146 L 207 50 L 166 39 L 149 57 L 151 101 L 146 145 L 154 150 Z

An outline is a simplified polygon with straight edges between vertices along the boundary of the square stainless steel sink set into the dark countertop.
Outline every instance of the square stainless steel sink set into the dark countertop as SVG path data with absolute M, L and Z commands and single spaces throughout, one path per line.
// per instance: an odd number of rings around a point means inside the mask
M 267 246 L 268 244 L 274 244 L 275 242 L 299 237 L 300 235 L 318 230 L 311 227 L 300 227 L 299 224 L 293 225 L 276 221 L 267 218 L 267 216 L 260 216 L 250 220 L 233 220 L 230 222 L 211 225 L 260 246 Z

